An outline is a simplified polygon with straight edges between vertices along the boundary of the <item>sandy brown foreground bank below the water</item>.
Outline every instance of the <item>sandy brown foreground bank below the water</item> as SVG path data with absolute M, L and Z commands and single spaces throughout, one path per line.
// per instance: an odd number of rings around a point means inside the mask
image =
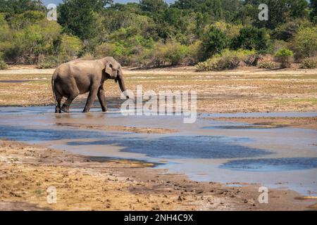
M 316 199 L 270 190 L 258 202 L 259 185 L 227 187 L 194 182 L 151 163 L 101 160 L 0 141 L 0 210 L 309 210 Z M 56 203 L 47 188 L 56 188 Z

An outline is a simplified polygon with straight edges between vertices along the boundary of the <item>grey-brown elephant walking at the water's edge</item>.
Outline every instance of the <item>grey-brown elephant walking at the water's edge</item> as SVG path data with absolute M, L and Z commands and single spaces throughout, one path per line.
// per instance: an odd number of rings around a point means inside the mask
M 51 85 L 56 99 L 55 113 L 69 113 L 70 104 L 80 94 L 89 92 L 83 113 L 88 113 L 92 103 L 98 96 L 102 111 L 106 112 L 104 82 L 115 79 L 121 91 L 125 91 L 121 65 L 112 57 L 100 60 L 73 60 L 56 68 L 51 79 Z M 61 107 L 61 99 L 67 100 Z M 126 96 L 129 98 L 129 96 Z

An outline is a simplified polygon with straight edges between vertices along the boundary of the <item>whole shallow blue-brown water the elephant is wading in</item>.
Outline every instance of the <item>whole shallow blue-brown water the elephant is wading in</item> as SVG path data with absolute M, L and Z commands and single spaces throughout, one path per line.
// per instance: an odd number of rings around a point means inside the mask
M 53 107 L 0 108 L 0 137 L 41 143 L 96 157 L 159 163 L 196 181 L 260 183 L 317 192 L 317 131 L 290 127 L 252 128 L 203 117 L 316 117 L 317 113 L 201 114 L 194 124 L 181 116 L 129 116 L 99 108 L 56 115 Z M 173 134 L 133 134 L 58 126 L 58 123 L 177 129 Z

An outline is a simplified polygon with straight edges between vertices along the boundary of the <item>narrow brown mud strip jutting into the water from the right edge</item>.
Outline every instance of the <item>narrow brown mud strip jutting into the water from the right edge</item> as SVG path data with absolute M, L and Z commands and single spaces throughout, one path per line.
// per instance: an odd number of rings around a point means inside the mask
M 232 128 L 235 129 L 269 129 L 278 127 L 295 127 L 317 130 L 317 117 L 205 117 L 204 119 L 249 124 L 245 126 L 232 126 Z

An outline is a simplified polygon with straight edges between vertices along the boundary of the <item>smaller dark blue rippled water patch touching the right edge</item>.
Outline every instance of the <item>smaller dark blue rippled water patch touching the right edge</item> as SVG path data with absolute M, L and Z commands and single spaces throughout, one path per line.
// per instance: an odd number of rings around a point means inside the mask
M 223 169 L 273 172 L 317 168 L 317 158 L 272 158 L 231 160 L 220 165 Z

